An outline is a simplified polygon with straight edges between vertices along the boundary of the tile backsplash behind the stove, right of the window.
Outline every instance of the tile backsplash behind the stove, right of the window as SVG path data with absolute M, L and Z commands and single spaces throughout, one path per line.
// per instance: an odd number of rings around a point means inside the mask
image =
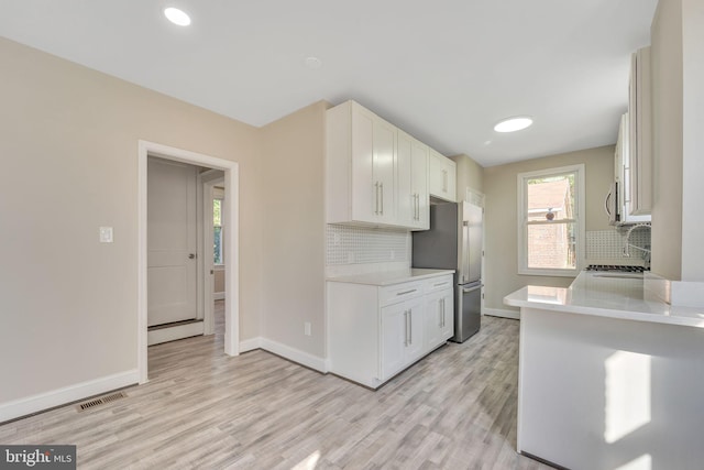
M 609 230 L 592 230 L 586 232 L 586 259 L 588 260 L 614 260 L 624 263 L 634 261 L 634 264 L 642 261 L 644 252 L 637 249 L 629 249 L 630 256 L 624 256 L 624 242 L 628 227 L 613 228 Z M 650 230 L 636 229 L 631 232 L 630 244 L 650 249 Z

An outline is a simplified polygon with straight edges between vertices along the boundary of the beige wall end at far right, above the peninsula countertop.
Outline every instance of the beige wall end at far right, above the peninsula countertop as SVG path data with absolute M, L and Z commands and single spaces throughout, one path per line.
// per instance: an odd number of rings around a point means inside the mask
M 704 3 L 661 0 L 651 28 L 652 270 L 704 281 Z

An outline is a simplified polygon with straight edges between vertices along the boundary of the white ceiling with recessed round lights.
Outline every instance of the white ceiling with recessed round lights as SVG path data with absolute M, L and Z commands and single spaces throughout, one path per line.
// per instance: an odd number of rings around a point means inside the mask
M 168 23 L 162 9 L 193 24 Z M 612 144 L 657 0 L 0 0 L 0 35 L 263 125 L 354 99 L 484 166 Z M 304 61 L 316 56 L 322 67 Z M 502 118 L 535 124 L 498 134 Z

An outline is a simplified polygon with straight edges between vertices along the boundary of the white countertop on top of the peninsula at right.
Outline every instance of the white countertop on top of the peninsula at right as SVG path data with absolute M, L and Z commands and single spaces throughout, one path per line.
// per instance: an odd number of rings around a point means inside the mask
M 644 278 L 623 273 L 582 272 L 570 287 L 529 285 L 504 297 L 514 307 L 540 308 L 704 328 L 704 307 L 672 306 L 644 288 Z

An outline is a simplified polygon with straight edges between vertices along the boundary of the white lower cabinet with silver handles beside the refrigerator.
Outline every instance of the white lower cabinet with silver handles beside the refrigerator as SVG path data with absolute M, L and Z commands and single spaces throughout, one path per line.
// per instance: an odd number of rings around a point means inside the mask
M 388 286 L 327 284 L 330 372 L 369 387 L 378 387 L 454 331 L 452 274 Z

